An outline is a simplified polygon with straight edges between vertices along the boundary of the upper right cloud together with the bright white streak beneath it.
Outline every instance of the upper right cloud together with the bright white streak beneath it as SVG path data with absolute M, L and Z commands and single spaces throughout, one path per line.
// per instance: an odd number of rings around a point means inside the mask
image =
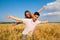
M 60 0 L 56 0 L 55 2 L 48 3 L 46 11 L 47 12 L 43 14 L 43 16 L 60 15 Z

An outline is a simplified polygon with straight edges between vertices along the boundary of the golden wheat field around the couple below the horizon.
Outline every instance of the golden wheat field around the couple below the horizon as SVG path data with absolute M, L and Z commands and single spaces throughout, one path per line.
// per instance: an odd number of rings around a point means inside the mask
M 0 40 L 21 40 L 24 24 L 0 23 Z M 33 33 L 33 40 L 60 40 L 60 23 L 38 24 Z M 31 40 L 30 36 L 26 40 Z

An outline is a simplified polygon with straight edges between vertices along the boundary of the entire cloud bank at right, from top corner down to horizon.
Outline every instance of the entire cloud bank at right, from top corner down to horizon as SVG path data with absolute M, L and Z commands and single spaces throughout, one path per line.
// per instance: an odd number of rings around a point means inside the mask
M 46 13 L 41 14 L 41 16 L 50 22 L 60 22 L 60 0 L 48 3 Z

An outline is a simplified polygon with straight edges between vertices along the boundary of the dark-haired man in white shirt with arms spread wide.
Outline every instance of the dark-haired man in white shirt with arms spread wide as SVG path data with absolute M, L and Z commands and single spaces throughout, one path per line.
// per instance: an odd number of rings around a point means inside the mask
M 35 29 L 35 26 L 42 22 L 42 21 L 38 20 L 39 16 L 40 16 L 40 14 L 38 12 L 35 12 L 34 16 L 31 19 L 27 19 L 27 18 L 22 19 L 22 18 L 17 18 L 17 17 L 11 16 L 11 15 L 8 15 L 7 18 L 12 18 L 17 21 L 22 21 L 25 24 L 24 31 L 22 32 L 22 40 L 25 40 L 25 36 L 28 35 L 29 32 L 31 32 L 31 35 L 32 35 L 32 33 Z M 46 23 L 46 22 L 47 21 L 42 22 L 42 23 Z

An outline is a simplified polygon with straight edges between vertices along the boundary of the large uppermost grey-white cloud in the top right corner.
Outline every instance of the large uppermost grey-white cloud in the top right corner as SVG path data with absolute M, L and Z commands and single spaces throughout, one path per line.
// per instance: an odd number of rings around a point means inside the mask
M 60 1 L 55 1 L 55 2 L 52 2 L 52 3 L 48 3 L 46 10 L 48 12 L 60 11 Z

